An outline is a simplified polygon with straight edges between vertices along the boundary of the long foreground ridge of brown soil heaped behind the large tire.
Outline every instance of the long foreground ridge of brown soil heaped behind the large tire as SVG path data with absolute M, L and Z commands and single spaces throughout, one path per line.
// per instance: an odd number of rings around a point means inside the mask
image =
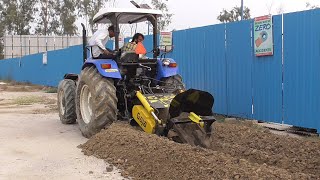
M 315 179 L 228 153 L 177 144 L 115 123 L 80 145 L 86 155 L 106 159 L 135 179 Z

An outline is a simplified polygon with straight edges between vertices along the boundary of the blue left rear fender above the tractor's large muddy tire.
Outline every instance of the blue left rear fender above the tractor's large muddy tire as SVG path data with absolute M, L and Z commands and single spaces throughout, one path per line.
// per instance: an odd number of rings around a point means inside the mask
M 102 64 L 110 64 L 110 69 L 102 69 Z M 113 79 L 121 79 L 121 74 L 119 72 L 119 68 L 117 63 L 114 60 L 111 59 L 91 59 L 88 58 L 86 62 L 83 64 L 82 69 L 84 69 L 87 66 L 94 65 L 101 76 L 107 77 L 107 78 L 113 78 Z

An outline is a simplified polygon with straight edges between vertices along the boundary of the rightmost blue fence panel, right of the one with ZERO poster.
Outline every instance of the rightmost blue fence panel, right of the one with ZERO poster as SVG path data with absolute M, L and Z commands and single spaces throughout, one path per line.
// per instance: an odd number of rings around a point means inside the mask
M 320 132 L 320 10 L 284 15 L 284 122 Z

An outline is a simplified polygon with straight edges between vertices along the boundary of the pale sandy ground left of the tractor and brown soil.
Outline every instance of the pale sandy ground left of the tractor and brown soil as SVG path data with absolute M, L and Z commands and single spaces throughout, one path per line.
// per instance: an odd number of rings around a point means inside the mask
M 124 179 L 77 146 L 77 125 L 62 125 L 51 88 L 0 83 L 0 179 Z

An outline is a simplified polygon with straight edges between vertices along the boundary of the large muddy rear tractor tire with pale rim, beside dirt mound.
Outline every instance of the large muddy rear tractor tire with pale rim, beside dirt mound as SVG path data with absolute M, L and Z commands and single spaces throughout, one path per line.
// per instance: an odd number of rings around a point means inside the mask
M 113 79 L 102 77 L 95 66 L 82 70 L 76 90 L 77 121 L 84 137 L 91 137 L 117 119 Z

